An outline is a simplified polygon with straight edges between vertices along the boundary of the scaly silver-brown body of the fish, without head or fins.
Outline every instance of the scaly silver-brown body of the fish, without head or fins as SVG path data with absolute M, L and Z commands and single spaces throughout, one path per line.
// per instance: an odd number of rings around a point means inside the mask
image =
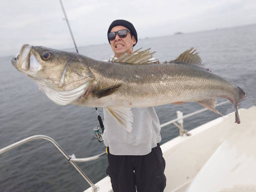
M 79 105 L 95 106 L 102 100 L 101 106 L 105 103 L 105 106 L 119 104 L 139 108 L 178 101 L 208 100 L 236 91 L 236 87 L 227 80 L 188 63 L 131 66 L 129 63 L 120 65 L 96 61 L 90 63 L 89 68 L 101 87 L 123 84 L 110 96 L 100 99 L 90 96 L 79 101 Z M 145 99 L 146 102 L 143 102 Z

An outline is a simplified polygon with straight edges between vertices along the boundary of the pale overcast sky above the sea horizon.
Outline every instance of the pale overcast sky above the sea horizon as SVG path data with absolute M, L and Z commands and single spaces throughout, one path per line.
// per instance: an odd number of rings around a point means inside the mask
M 62 0 L 78 47 L 108 43 L 115 19 L 129 20 L 138 38 L 256 23 L 255 0 Z M 16 55 L 24 44 L 73 48 L 58 0 L 1 0 L 0 56 Z

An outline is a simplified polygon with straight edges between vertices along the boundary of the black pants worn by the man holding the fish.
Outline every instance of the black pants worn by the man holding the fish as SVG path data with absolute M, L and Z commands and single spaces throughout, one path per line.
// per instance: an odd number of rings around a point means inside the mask
M 114 192 L 162 192 L 166 186 L 165 160 L 159 144 L 143 156 L 111 155 L 108 147 L 109 166 Z

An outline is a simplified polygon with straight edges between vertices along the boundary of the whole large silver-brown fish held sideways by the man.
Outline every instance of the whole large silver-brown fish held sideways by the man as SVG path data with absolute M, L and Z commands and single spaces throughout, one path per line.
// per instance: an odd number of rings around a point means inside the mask
M 217 97 L 228 99 L 236 110 L 245 98 L 244 91 L 201 67 L 193 48 L 177 59 L 159 63 L 148 61 L 149 50 L 123 55 L 115 62 L 24 45 L 12 64 L 32 78 L 53 102 L 105 108 L 131 132 L 130 108 L 196 101 L 215 109 Z

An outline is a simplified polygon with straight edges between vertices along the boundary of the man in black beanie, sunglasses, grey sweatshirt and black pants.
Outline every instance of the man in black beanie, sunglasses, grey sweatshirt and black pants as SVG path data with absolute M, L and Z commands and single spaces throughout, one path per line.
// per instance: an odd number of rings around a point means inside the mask
M 114 59 L 124 53 L 131 54 L 138 42 L 137 32 L 130 22 L 114 20 L 108 30 L 108 39 Z M 112 58 L 111 58 L 112 60 Z M 104 110 L 103 134 L 107 147 L 114 192 L 160 192 L 166 185 L 165 161 L 159 145 L 160 123 L 153 107 L 131 109 L 133 112 L 132 133 Z

